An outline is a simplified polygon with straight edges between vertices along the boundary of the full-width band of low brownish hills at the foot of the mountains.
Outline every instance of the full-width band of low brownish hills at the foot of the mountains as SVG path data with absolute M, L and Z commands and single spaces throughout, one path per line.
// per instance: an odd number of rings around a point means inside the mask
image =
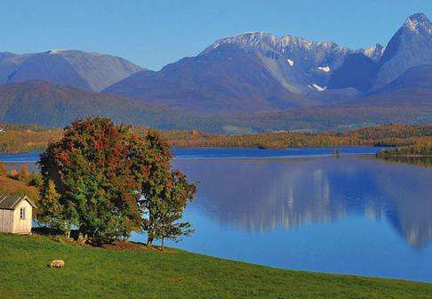
M 413 101 L 413 97 L 417 99 Z M 326 131 L 387 123 L 431 124 L 432 90 L 375 94 L 348 104 L 199 117 L 108 93 L 28 81 L 0 86 L 0 123 L 68 125 L 76 117 L 100 115 L 115 122 L 159 129 L 197 129 L 214 133 Z M 193 112 L 193 110 L 191 110 Z

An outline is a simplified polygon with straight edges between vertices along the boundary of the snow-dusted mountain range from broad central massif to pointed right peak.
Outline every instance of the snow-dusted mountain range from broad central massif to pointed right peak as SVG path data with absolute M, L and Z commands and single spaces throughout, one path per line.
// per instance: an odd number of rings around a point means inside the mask
M 104 92 L 204 114 L 323 106 L 364 97 L 432 62 L 432 23 L 410 16 L 386 47 L 252 32 L 222 38 L 196 57 L 139 71 Z M 360 101 L 360 100 L 359 100 Z

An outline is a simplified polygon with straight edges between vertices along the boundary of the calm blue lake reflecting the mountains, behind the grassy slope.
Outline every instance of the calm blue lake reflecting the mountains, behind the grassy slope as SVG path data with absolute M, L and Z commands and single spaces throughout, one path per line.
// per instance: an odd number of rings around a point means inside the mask
M 432 168 L 381 161 L 379 149 L 175 150 L 199 182 L 170 246 L 305 271 L 432 281 Z M 36 153 L 0 155 L 34 166 Z M 132 240 L 145 241 L 134 234 Z

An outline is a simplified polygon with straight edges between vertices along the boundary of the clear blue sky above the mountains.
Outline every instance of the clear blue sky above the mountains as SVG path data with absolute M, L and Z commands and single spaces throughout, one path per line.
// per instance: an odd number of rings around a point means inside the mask
M 432 1 L 2 0 L 0 52 L 79 49 L 159 69 L 220 37 L 248 31 L 352 48 L 386 44 L 413 12 L 432 18 Z

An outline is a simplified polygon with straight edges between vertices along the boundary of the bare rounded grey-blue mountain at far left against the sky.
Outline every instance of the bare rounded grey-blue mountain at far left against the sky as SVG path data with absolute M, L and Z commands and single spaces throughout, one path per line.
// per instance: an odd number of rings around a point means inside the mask
M 0 84 L 41 79 L 92 91 L 112 85 L 142 70 L 123 58 L 76 50 L 44 53 L 0 53 Z

